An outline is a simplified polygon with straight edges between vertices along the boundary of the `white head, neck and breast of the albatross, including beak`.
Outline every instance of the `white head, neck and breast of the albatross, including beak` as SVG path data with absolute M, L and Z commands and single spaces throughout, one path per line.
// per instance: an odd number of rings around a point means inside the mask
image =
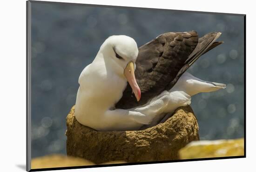
M 150 123 L 151 118 L 140 112 L 114 109 L 127 81 L 137 100 L 141 97 L 134 75 L 137 55 L 137 44 L 128 36 L 111 36 L 105 40 L 94 61 L 79 77 L 75 104 L 78 122 L 99 131 L 127 130 Z

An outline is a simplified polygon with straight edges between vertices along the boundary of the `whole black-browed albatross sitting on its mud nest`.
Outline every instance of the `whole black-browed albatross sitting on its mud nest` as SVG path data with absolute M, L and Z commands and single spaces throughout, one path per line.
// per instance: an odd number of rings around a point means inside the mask
M 79 77 L 76 119 L 98 131 L 138 130 L 189 105 L 196 93 L 225 88 L 186 72 L 222 43 L 215 42 L 220 34 L 164 33 L 139 49 L 128 36 L 110 36 Z

